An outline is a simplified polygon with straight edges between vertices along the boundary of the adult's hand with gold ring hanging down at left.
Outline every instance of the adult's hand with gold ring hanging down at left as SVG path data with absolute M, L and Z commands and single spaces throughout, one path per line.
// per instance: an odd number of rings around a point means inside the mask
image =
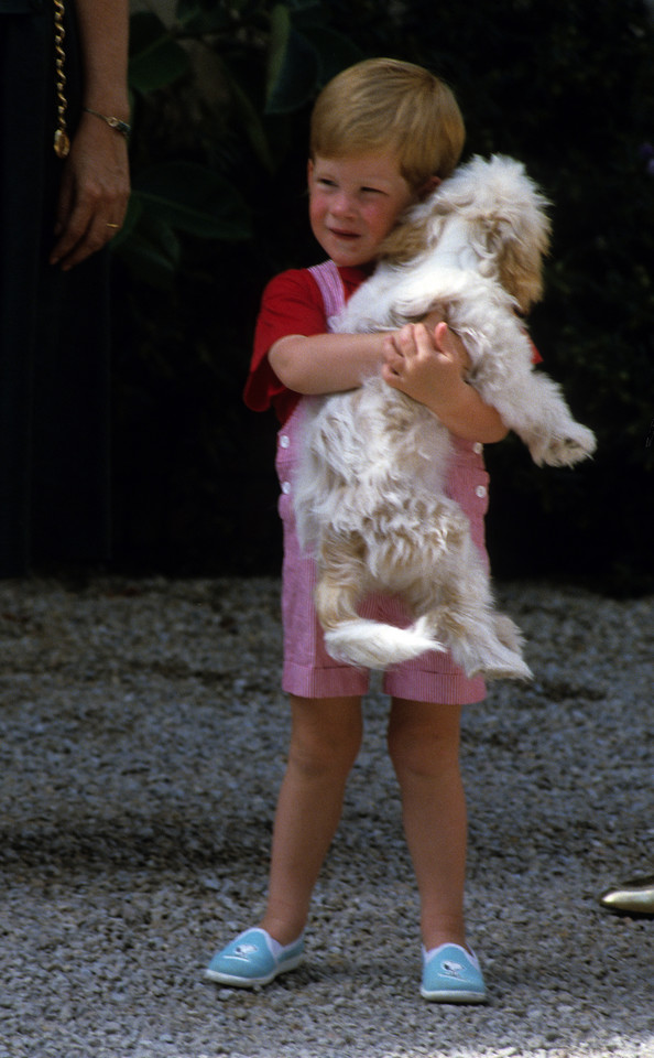
M 83 114 L 64 162 L 51 264 L 68 271 L 120 230 L 130 194 L 124 137 Z

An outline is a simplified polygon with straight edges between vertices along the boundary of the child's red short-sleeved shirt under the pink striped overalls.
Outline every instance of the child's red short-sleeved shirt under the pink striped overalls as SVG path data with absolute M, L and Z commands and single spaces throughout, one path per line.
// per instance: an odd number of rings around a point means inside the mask
M 368 279 L 370 270 L 339 268 L 346 301 Z M 291 415 L 299 393 L 280 381 L 268 358 L 269 350 L 290 334 L 310 337 L 327 333 L 323 295 L 308 269 L 292 269 L 276 276 L 263 291 L 254 332 L 254 352 L 246 381 L 244 400 L 252 411 L 274 408 L 281 423 Z

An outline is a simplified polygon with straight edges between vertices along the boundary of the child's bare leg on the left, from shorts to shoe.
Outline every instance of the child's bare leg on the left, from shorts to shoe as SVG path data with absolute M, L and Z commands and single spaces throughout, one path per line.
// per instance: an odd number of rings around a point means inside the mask
M 361 744 L 360 698 L 291 697 L 293 727 L 273 831 L 263 929 L 290 944 L 304 929 L 312 893 L 340 819 Z

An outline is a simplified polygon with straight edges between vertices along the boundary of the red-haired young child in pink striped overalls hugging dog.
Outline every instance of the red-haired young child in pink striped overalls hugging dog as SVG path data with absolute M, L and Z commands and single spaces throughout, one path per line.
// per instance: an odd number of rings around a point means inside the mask
M 464 122 L 449 89 L 427 71 L 370 60 L 339 74 L 312 117 L 309 219 L 328 255 L 314 269 L 284 272 L 266 288 L 258 321 L 246 401 L 274 407 L 281 431 L 277 469 L 284 525 L 283 687 L 292 736 L 275 817 L 270 888 L 259 926 L 219 951 L 206 974 L 253 987 L 294 969 L 304 947 L 312 892 L 338 825 L 344 789 L 359 752 L 361 695 L 368 673 L 325 651 L 314 605 L 314 562 L 303 553 L 293 517 L 293 479 L 304 397 L 352 389 L 382 370 L 425 403 L 455 438 L 449 492 L 465 509 L 486 555 L 488 477 L 483 442 L 506 430 L 464 379 L 466 353 L 437 317 L 382 334 L 330 334 L 328 320 L 370 274 L 402 210 L 450 175 Z M 396 600 L 373 597 L 367 613 L 406 623 Z M 389 751 L 402 792 L 406 841 L 417 877 L 423 938 L 422 995 L 482 1002 L 479 962 L 466 942 L 464 882 L 466 802 L 459 773 L 461 706 L 484 697 L 448 655 L 429 652 L 389 670 Z

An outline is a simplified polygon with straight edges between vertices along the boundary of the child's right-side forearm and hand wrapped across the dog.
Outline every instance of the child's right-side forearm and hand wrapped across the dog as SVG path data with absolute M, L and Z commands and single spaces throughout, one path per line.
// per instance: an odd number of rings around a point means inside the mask
M 382 375 L 389 386 L 425 404 L 458 438 L 484 444 L 501 441 L 509 430 L 499 412 L 466 382 L 467 366 L 462 342 L 445 323 L 433 333 L 418 323 L 386 335 Z

